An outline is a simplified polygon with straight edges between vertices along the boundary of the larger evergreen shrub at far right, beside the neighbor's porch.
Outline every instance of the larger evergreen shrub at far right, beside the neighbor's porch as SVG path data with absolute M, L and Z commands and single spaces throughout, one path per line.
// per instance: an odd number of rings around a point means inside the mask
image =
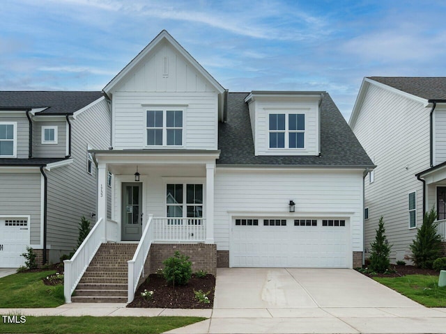
M 426 212 L 423 225 L 410 245 L 413 263 L 422 269 L 432 269 L 433 261 L 440 256 L 441 237 L 437 234 L 437 213 L 432 208 Z

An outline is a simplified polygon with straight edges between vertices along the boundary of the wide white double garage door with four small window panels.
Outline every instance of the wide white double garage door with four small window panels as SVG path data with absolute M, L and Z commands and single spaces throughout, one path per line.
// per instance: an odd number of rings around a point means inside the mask
M 234 218 L 231 267 L 347 268 L 344 218 Z

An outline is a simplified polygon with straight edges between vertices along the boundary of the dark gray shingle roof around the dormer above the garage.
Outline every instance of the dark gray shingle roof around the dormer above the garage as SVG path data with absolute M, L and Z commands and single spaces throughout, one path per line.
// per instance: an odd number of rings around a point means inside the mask
M 217 164 L 374 166 L 328 93 L 323 93 L 321 103 L 321 157 L 256 157 L 249 109 L 244 101 L 248 94 L 229 93 L 228 119 L 219 125 L 218 146 L 222 152 Z

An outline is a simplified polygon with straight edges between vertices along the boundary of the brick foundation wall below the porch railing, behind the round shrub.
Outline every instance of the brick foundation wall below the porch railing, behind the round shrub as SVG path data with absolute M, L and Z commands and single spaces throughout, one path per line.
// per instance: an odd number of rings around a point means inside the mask
M 215 244 L 152 244 L 148 257 L 150 272 L 155 273 L 158 268 L 164 268 L 162 262 L 173 256 L 176 250 L 189 257 L 192 262 L 192 272 L 203 270 L 213 276 L 217 275 L 217 246 Z

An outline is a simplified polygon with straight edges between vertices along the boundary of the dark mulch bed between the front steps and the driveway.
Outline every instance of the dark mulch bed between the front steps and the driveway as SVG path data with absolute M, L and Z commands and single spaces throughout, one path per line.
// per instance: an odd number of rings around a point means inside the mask
M 150 300 L 141 296 L 141 292 L 153 291 L 153 297 Z M 210 303 L 199 303 L 195 299 L 195 291 L 210 292 L 208 298 Z M 167 285 L 164 277 L 157 274 L 148 276 L 146 282 L 141 284 L 134 294 L 134 300 L 128 304 L 128 308 L 213 308 L 215 292 L 215 277 L 206 275 L 204 278 L 196 278 L 192 275 L 187 285 L 176 286 L 175 288 Z

